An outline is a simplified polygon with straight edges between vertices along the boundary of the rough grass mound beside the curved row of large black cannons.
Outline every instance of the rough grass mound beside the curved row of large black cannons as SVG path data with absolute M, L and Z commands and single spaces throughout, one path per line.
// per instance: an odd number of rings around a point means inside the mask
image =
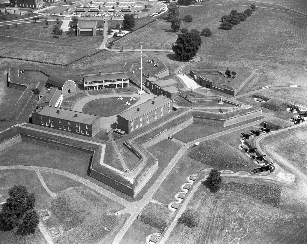
M 188 156 L 212 167 L 225 169 L 244 168 L 250 164 L 249 159 L 239 155 L 235 148 L 217 140 L 201 143 L 193 148 Z

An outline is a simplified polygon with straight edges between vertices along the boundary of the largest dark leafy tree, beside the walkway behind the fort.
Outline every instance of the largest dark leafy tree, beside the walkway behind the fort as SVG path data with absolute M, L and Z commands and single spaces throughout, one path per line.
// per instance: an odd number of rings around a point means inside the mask
M 191 59 L 198 51 L 201 45 L 199 32 L 191 30 L 187 33 L 178 34 L 176 45 L 173 45 L 173 51 L 180 60 Z

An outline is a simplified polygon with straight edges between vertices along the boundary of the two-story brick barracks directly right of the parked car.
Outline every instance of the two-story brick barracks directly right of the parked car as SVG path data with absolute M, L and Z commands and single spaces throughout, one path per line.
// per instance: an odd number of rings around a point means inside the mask
M 134 108 L 117 115 L 117 128 L 127 134 L 137 131 L 138 128 L 147 126 L 150 123 L 167 116 L 173 110 L 173 100 L 166 96 L 157 96 Z

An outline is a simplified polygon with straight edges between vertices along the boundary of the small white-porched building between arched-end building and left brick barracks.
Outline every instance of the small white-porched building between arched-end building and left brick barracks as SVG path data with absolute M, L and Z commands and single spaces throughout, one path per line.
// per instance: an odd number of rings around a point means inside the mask
M 63 94 L 61 90 L 57 89 L 57 87 L 52 87 L 41 92 L 37 97 L 37 100 L 37 108 L 43 108 L 48 105 L 60 108 L 60 105 L 63 102 Z

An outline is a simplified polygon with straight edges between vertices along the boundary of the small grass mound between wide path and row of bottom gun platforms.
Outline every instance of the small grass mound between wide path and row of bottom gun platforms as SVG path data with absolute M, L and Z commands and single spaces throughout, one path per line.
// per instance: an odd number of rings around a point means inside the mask
M 159 232 L 162 232 L 168 225 L 173 212 L 160 204 L 149 202 L 143 208 L 140 215 L 139 221 L 149 224 L 159 230 Z

